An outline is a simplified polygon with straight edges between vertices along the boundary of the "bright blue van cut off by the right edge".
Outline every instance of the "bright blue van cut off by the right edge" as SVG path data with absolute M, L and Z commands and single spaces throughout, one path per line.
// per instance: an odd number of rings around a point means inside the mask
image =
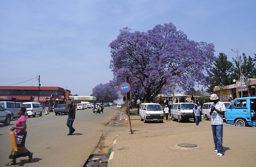
M 254 110 L 254 114 L 253 111 Z M 255 126 L 256 97 L 236 98 L 225 112 L 226 124 L 235 126 Z M 252 117 L 254 115 L 254 117 Z

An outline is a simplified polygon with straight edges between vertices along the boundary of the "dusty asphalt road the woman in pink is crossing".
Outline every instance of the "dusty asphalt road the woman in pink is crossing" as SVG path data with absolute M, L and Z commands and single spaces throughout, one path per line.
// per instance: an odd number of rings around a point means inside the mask
M 27 118 L 26 148 L 34 152 L 33 160 L 28 157 L 17 159 L 19 166 L 83 166 L 97 146 L 104 123 L 114 118 L 118 110 L 115 106 L 105 107 L 104 114 L 94 114 L 91 109 L 76 111 L 73 127 L 75 135 L 67 136 L 67 115 L 50 113 L 42 117 Z M 10 162 L 11 150 L 9 126 L 0 125 L 0 166 Z

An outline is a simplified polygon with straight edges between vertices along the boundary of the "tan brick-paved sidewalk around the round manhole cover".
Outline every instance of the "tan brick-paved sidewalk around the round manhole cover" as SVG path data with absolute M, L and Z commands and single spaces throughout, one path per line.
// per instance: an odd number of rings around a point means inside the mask
M 122 120 L 125 117 L 123 114 Z M 142 122 L 136 115 L 131 119 L 132 122 Z M 225 155 L 216 157 L 210 124 L 206 120 L 200 122 L 199 126 L 191 121 L 164 121 L 135 126 L 132 135 L 125 132 L 116 137 L 113 159 L 109 160 L 108 166 L 256 166 L 255 127 L 235 127 L 224 123 Z M 179 143 L 193 143 L 199 148 L 175 149 L 174 146 Z

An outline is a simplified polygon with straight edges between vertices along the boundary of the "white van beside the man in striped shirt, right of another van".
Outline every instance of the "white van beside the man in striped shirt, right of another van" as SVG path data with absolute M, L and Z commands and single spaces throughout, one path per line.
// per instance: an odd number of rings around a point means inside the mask
M 172 121 L 178 119 L 180 123 L 182 120 L 194 120 L 194 117 L 192 117 L 194 107 L 195 104 L 192 102 L 173 103 L 171 107 Z

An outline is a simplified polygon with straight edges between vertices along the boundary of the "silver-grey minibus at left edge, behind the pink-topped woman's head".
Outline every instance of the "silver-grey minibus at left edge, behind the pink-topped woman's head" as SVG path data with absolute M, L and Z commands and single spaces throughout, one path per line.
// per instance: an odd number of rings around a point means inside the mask
M 25 107 L 24 104 L 22 104 L 21 102 L 0 102 L 0 105 L 5 110 L 10 111 L 12 113 L 11 121 L 13 120 L 13 118 L 20 117 L 20 115 L 18 115 L 18 110 L 20 107 Z

